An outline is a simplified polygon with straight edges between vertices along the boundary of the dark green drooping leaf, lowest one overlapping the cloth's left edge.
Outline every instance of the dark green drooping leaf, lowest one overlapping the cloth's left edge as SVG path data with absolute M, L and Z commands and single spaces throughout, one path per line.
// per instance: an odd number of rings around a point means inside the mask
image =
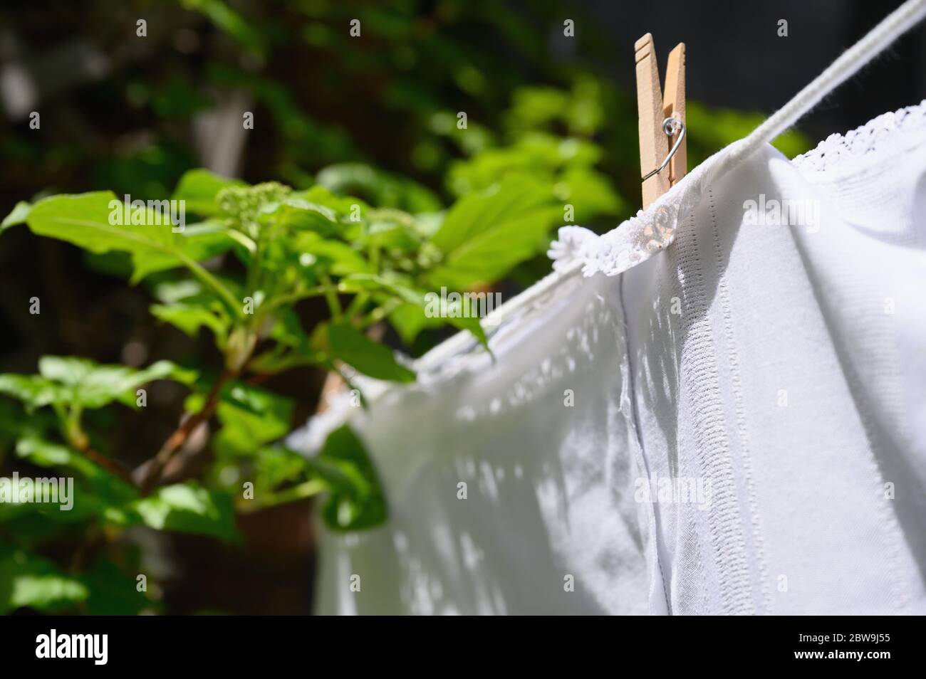
M 331 488 L 321 516 L 332 530 L 363 530 L 381 525 L 388 518 L 376 468 L 349 426 L 332 431 L 319 456 L 309 462 Z

